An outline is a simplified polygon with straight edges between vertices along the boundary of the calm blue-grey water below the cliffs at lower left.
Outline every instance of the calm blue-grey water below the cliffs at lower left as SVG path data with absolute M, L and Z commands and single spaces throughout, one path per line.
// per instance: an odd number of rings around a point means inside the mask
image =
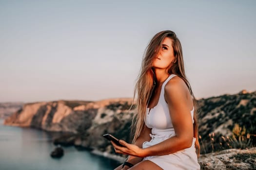
M 64 155 L 54 159 L 52 134 L 32 128 L 3 125 L 0 119 L 0 170 L 113 170 L 118 162 L 63 147 Z

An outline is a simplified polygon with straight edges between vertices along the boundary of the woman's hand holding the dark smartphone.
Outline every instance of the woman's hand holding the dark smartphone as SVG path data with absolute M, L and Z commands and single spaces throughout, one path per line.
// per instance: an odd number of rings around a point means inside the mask
M 126 143 L 124 140 L 119 140 L 119 143 L 124 147 L 118 146 L 114 142 L 110 141 L 115 148 L 116 153 L 128 154 L 137 157 L 146 157 L 145 150 L 139 148 L 137 145 Z

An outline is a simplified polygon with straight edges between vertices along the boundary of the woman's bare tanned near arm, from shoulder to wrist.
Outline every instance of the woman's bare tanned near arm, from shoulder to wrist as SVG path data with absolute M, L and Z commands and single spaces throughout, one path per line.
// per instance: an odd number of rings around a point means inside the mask
M 165 85 L 165 99 L 176 136 L 144 149 L 146 156 L 165 155 L 191 147 L 193 123 L 187 99 L 188 88 L 179 77 L 174 77 Z

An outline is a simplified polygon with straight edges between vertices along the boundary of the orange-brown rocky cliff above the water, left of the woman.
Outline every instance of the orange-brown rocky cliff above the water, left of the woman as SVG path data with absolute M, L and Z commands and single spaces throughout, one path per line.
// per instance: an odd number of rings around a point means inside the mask
M 111 133 L 130 141 L 134 109 L 132 99 L 109 99 L 98 102 L 53 101 L 26 103 L 5 119 L 5 125 L 26 126 L 45 131 L 68 132 L 56 143 L 75 144 L 105 150 L 110 143 L 102 137 Z

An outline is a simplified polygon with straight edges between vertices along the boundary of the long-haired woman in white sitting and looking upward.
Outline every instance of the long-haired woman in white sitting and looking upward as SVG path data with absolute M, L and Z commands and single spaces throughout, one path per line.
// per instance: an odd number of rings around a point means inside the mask
M 133 144 L 111 142 L 116 153 L 129 155 L 115 170 L 200 170 L 196 100 L 174 32 L 159 32 L 150 41 L 134 98 L 137 92 Z

